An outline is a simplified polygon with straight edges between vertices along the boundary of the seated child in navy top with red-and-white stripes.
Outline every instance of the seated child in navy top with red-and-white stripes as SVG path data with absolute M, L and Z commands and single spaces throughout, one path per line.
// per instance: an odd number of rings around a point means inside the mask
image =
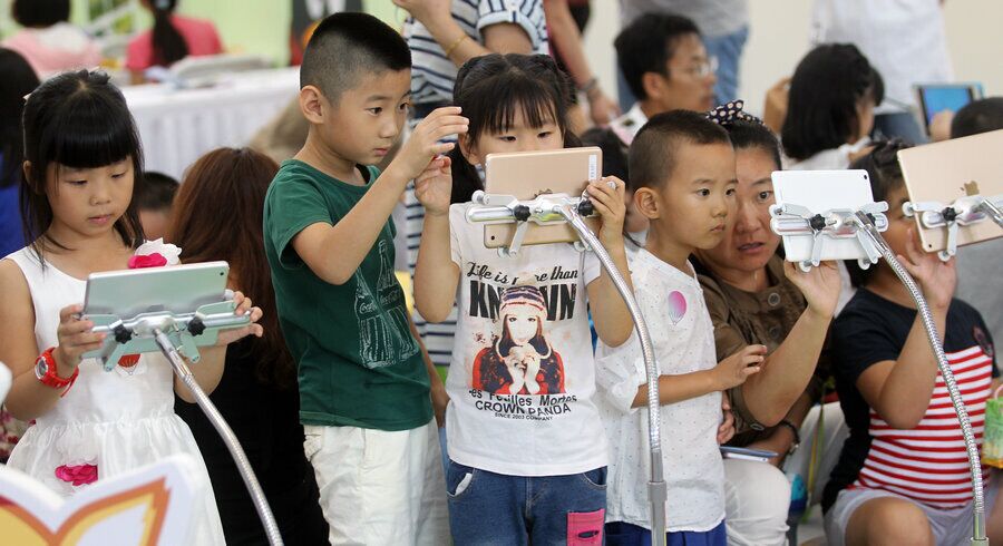
M 953 298 L 954 260 L 923 253 L 896 153 L 879 144 L 854 167 L 869 173 L 876 201 L 887 201 L 885 240 L 919 283 L 944 351 L 982 442 L 994 351 L 989 330 Z M 850 436 L 822 498 L 829 544 L 956 545 L 972 533 L 972 484 L 961 427 L 925 330 L 905 286 L 887 263 L 850 266 L 859 290 L 834 325 L 834 372 Z M 991 543 L 1003 540 L 999 479 L 987 475 Z M 995 505 L 995 506 L 994 506 Z

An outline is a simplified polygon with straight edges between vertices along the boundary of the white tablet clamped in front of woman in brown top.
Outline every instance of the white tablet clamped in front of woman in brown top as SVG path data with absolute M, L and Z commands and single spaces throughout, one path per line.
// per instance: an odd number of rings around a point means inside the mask
M 772 175 L 777 206 L 799 205 L 815 214 L 847 208 L 857 211 L 874 203 L 867 170 L 776 170 Z M 778 218 L 771 222 L 776 231 Z M 860 260 L 867 253 L 856 237 L 826 238 L 821 261 Z M 788 262 L 811 260 L 812 237 L 782 235 L 785 257 Z

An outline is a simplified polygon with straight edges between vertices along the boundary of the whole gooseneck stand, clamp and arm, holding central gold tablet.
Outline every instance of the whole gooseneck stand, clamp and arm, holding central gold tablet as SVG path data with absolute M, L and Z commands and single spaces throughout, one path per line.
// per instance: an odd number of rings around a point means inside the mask
M 641 316 L 641 308 L 634 300 L 626 281 L 610 257 L 610 253 L 603 248 L 598 237 L 592 233 L 584 216 L 592 216 L 595 212 L 592 202 L 587 197 L 572 197 L 566 194 L 544 194 L 533 201 L 518 201 L 510 195 L 488 195 L 484 192 L 475 192 L 473 198 L 475 206 L 467 211 L 469 222 L 485 224 L 517 224 L 515 235 L 509 246 L 499 248 L 503 256 L 512 256 L 522 247 L 523 237 L 533 222 L 537 225 L 552 225 L 567 223 L 577 232 L 581 244 L 580 250 L 591 248 L 595 252 L 600 263 L 613 280 L 617 292 L 626 303 L 637 337 L 641 341 L 641 353 L 644 358 L 644 369 L 647 373 L 647 430 L 651 448 L 651 480 L 647 482 L 647 493 L 651 498 L 651 536 L 652 544 L 663 546 L 665 544 L 665 480 L 662 471 L 662 441 L 661 441 L 661 411 L 659 404 L 659 369 L 655 363 L 654 345 L 647 333 L 647 325 Z

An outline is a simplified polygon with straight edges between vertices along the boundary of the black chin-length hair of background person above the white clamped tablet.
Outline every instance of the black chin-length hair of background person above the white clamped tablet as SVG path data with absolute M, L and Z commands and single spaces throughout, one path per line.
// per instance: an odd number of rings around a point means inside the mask
M 780 135 L 795 159 L 838 148 L 859 131 L 857 105 L 885 98 L 882 76 L 849 43 L 826 43 L 801 59 L 790 80 L 787 117 Z

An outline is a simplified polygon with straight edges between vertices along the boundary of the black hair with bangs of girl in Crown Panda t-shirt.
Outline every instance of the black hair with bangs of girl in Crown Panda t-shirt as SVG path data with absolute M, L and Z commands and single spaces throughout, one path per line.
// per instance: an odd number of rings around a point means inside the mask
M 532 127 L 554 120 L 565 147 L 578 146 L 568 128 L 567 107 L 573 86 L 548 55 L 491 53 L 468 60 L 456 75 L 452 100 L 470 120 L 467 143 L 476 146 L 486 133 L 503 133 L 512 127 L 517 110 Z M 470 201 L 483 189 L 477 168 L 456 146 L 452 159 L 452 203 Z

